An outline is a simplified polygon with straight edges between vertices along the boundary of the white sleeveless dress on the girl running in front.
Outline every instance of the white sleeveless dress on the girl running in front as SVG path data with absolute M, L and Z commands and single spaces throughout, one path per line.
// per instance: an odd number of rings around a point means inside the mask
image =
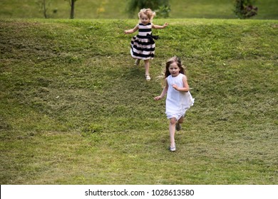
M 175 84 L 177 87 L 183 87 L 182 77 L 183 74 L 177 75 L 177 77 L 172 77 L 169 75 L 167 77 L 168 82 L 168 92 L 166 98 L 166 115 L 167 118 L 175 117 L 177 120 L 180 117 L 185 116 L 185 112 L 194 104 L 194 99 L 192 98 L 190 92 L 180 92 L 175 90 L 172 85 Z

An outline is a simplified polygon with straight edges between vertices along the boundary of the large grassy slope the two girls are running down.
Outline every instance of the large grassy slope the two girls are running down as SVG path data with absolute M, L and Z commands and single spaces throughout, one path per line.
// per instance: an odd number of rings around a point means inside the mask
M 0 20 L 0 183 L 277 184 L 278 22 L 168 19 L 150 82 L 136 22 Z M 170 153 L 153 97 L 173 55 L 195 105 Z

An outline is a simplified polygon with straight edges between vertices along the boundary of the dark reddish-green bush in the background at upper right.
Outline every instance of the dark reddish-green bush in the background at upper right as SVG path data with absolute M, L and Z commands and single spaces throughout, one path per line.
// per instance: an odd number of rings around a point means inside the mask
M 252 0 L 235 0 L 235 14 L 239 18 L 251 18 L 257 15 L 258 8 Z

